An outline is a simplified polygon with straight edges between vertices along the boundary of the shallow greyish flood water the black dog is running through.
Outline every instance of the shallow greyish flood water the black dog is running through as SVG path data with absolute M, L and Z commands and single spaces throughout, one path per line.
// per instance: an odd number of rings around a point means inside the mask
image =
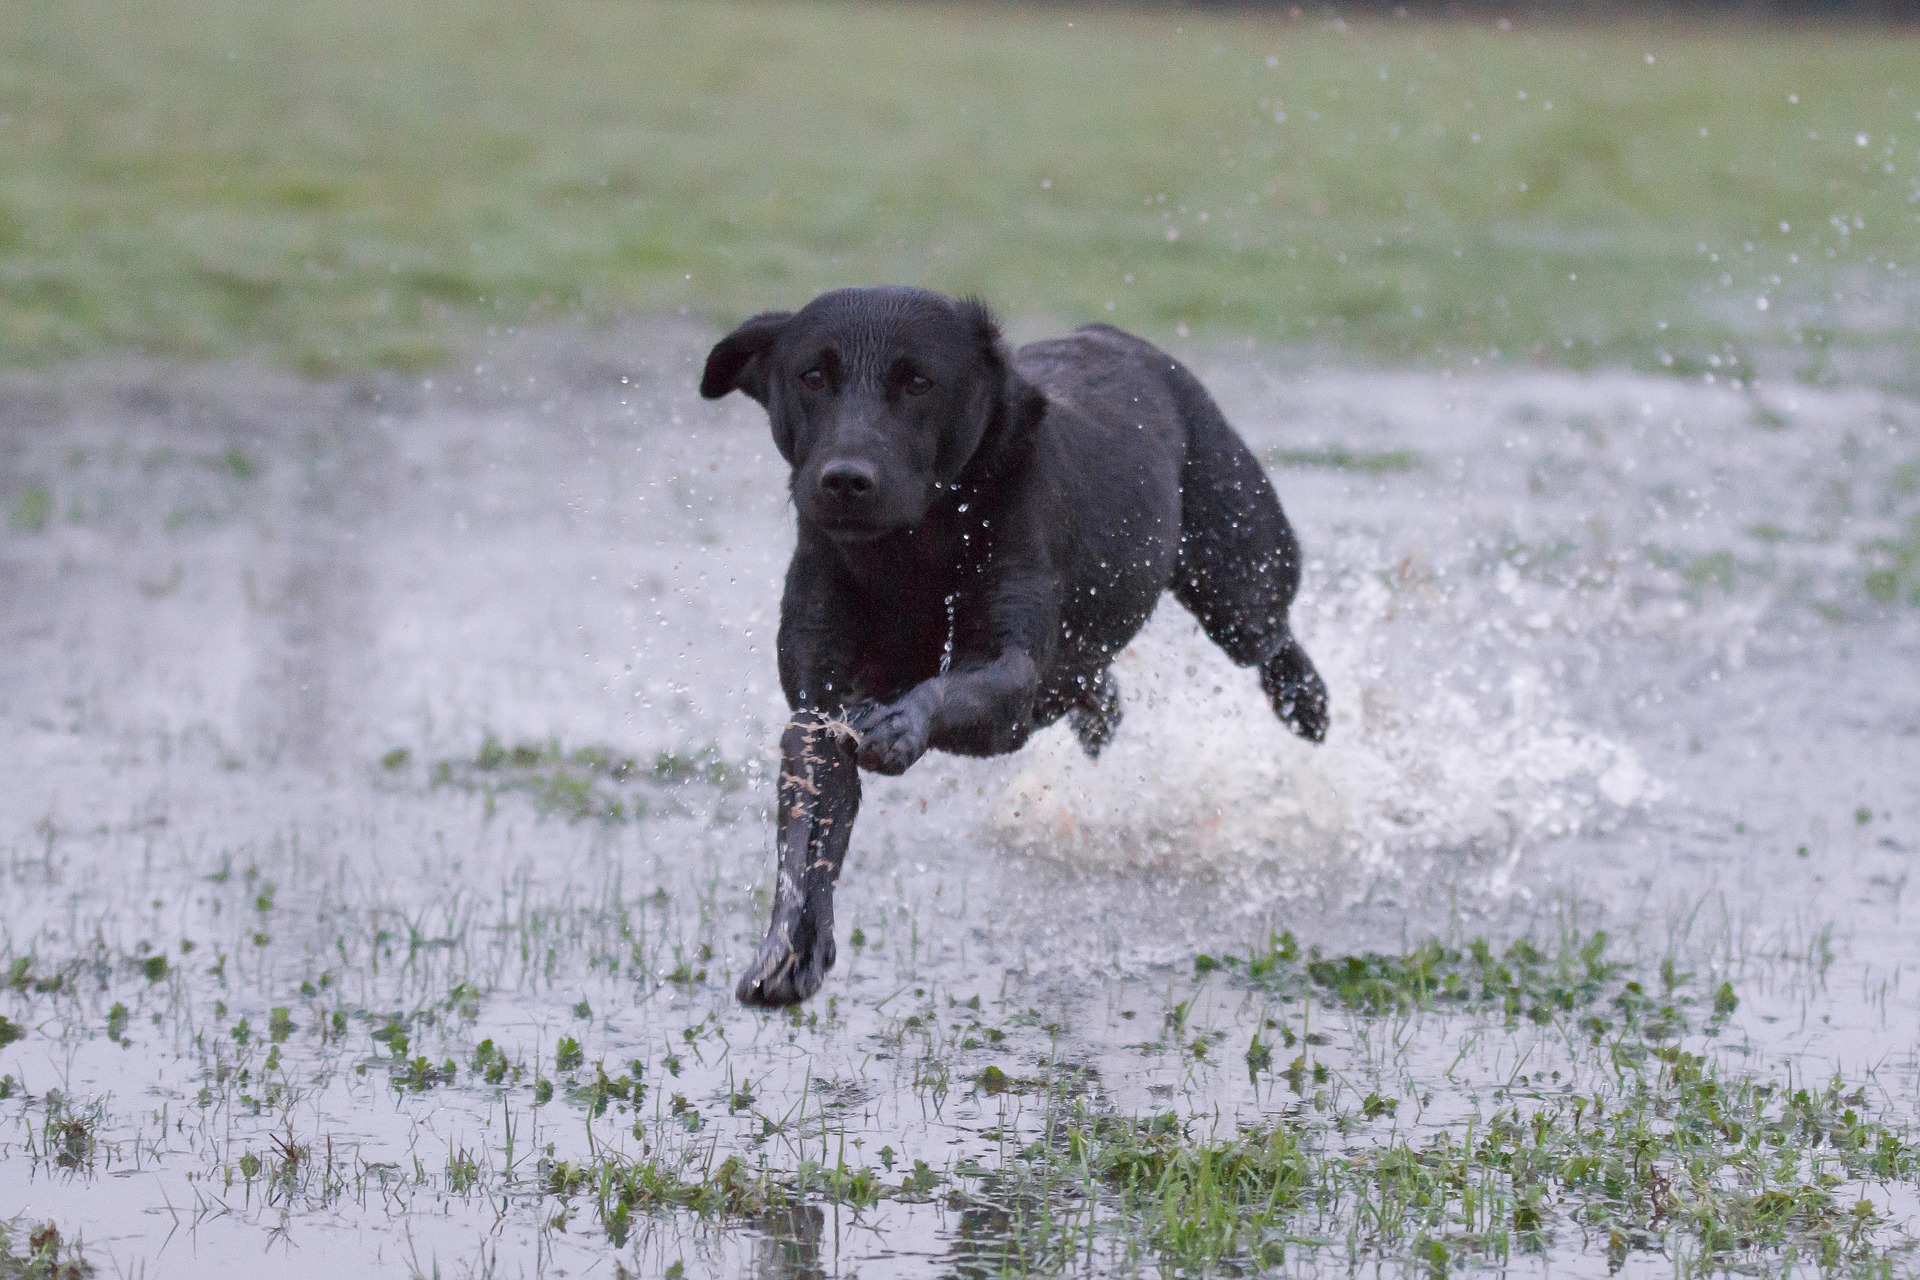
M 29 1032 L 0 1048 L 0 1213 L 146 1274 L 925 1274 L 977 1222 L 889 1201 L 614 1249 L 532 1188 L 603 1148 L 991 1163 L 1031 1117 L 970 1086 L 987 1065 L 1273 1111 L 1233 1054 L 1150 1046 L 1177 1002 L 1244 1042 L 1260 1013 L 1192 994 L 1190 960 L 1269 929 L 1607 925 L 1740 984 L 1726 1052 L 1920 1119 L 1920 608 L 1868 589 L 1920 539 L 1914 401 L 1200 357 L 1308 547 L 1327 745 L 1169 603 L 1098 764 L 1052 729 L 868 783 L 841 963 L 789 1021 L 728 992 L 770 887 L 791 514 L 756 411 L 691 391 L 708 340 L 0 388 L 0 942 L 67 975 L 0 994 Z M 570 819 L 515 745 L 639 781 L 588 777 L 620 816 Z M 396 1088 L 394 1017 L 459 1077 Z M 1444 1027 L 1390 1061 L 1331 1034 L 1359 1092 L 1463 1055 Z M 639 1063 L 639 1130 L 534 1105 L 563 1036 Z M 482 1038 L 516 1088 L 472 1079 Z M 84 1155 L 52 1136 L 75 1109 Z M 286 1144 L 286 1186 L 244 1171 Z

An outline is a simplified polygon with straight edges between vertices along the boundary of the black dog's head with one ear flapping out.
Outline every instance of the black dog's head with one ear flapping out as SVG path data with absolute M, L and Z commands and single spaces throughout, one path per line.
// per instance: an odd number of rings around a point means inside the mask
M 707 357 L 701 395 L 728 391 L 766 405 L 801 518 L 841 541 L 916 528 L 1046 411 L 983 305 L 912 288 L 753 317 Z

